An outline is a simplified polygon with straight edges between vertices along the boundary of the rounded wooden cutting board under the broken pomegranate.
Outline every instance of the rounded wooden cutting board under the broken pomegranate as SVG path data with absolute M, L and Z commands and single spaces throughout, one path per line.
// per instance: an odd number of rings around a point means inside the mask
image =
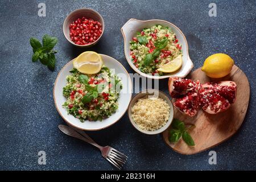
M 207 150 L 232 137 L 242 125 L 250 98 L 249 81 L 245 73 L 236 65 L 233 66 L 232 72 L 224 78 L 209 78 L 201 71 L 201 68 L 188 75 L 188 78 L 191 78 L 193 81 L 198 79 L 201 83 L 225 80 L 234 81 L 237 84 L 237 99 L 228 110 L 218 114 L 208 114 L 201 109 L 195 117 L 187 117 L 175 108 L 174 118 L 196 125 L 195 128 L 189 130 L 189 134 L 191 134 L 195 141 L 195 146 L 187 146 L 182 139 L 175 144 L 170 143 L 168 140 L 170 128 L 163 132 L 163 139 L 174 151 L 185 155 Z

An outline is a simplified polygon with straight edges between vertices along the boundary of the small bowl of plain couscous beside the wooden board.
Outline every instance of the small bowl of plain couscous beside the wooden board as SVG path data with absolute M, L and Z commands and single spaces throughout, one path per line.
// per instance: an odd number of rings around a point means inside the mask
M 128 116 L 135 129 L 155 135 L 171 125 L 174 106 L 165 93 L 156 89 L 142 90 L 131 100 Z

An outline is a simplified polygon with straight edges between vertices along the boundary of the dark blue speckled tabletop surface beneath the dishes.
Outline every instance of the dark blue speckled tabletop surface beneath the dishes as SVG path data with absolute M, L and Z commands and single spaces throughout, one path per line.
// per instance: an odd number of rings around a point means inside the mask
M 46 3 L 47 16 L 38 16 L 38 3 Z M 209 17 L 209 3 L 217 4 L 217 17 Z M 62 23 L 72 10 L 89 7 L 105 20 L 100 42 L 89 49 L 73 47 L 63 36 Z M 55 109 L 52 90 L 60 69 L 79 53 L 93 50 L 114 57 L 133 73 L 123 53 L 120 28 L 130 18 L 164 19 L 176 24 L 189 44 L 189 55 L 199 68 L 206 57 L 228 53 L 249 78 L 251 96 L 245 121 L 228 141 L 214 147 L 217 165 L 208 164 L 208 151 L 180 155 L 160 135 L 135 130 L 127 114 L 108 129 L 88 132 L 98 143 L 122 151 L 129 160 L 125 169 L 256 169 L 255 1 L 1 1 L 0 3 L 0 169 L 113 169 L 89 144 L 64 135 L 64 121 Z M 56 69 L 32 63 L 31 36 L 57 36 Z M 167 80 L 160 82 L 167 93 Z M 47 164 L 38 164 L 46 151 Z

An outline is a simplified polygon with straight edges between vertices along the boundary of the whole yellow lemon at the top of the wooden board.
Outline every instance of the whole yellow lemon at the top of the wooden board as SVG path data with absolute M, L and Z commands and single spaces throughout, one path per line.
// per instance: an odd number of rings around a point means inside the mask
M 207 57 L 201 68 L 211 78 L 221 78 L 228 75 L 234 65 L 234 60 L 225 53 L 216 53 Z

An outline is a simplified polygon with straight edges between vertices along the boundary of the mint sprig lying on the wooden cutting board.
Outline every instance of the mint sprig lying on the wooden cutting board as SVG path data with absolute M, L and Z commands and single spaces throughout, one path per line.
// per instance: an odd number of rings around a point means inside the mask
M 188 146 L 195 146 L 193 138 L 188 133 L 188 130 L 191 128 L 191 126 L 186 128 L 184 122 L 179 121 L 179 119 L 174 119 L 174 121 L 172 121 L 171 130 L 169 132 L 169 141 L 171 143 L 175 143 L 182 137 Z

